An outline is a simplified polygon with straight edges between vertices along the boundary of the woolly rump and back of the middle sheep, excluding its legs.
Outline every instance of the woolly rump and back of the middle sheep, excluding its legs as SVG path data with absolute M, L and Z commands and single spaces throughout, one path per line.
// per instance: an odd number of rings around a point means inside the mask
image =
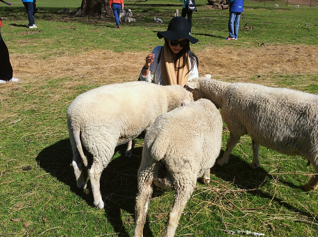
M 212 167 L 220 153 L 222 118 L 211 101 L 200 99 L 159 116 L 146 133 L 150 156 L 189 171 Z

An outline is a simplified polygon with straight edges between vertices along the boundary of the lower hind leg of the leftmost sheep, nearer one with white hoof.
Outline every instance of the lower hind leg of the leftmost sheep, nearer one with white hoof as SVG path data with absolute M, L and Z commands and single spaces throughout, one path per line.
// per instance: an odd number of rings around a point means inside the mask
M 101 193 L 100 193 L 99 180 L 100 180 L 101 173 L 103 169 L 107 166 L 107 164 L 105 165 L 104 163 L 101 163 L 97 160 L 94 158 L 93 164 L 91 165 L 91 170 L 90 170 L 91 190 L 94 197 L 94 205 L 99 209 L 104 209 L 104 202 L 101 198 Z

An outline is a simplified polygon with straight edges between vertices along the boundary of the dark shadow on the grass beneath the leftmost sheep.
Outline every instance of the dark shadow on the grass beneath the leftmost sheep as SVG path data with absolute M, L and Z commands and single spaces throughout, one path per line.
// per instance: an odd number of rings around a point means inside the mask
M 115 150 L 125 154 L 126 145 L 118 146 Z M 126 230 L 127 223 L 135 225 L 135 203 L 137 194 L 137 170 L 141 159 L 142 147 L 133 148 L 132 158 L 120 156 L 113 158 L 104 169 L 100 178 L 100 190 L 105 202 L 105 216 L 119 236 L 129 236 Z M 72 162 L 73 153 L 69 139 L 64 139 L 46 147 L 36 158 L 41 168 L 56 177 L 60 182 L 68 185 L 72 192 L 82 197 L 92 208 L 93 197 L 91 184 L 88 190 L 77 188 Z M 89 157 L 91 159 L 91 157 Z M 90 167 L 89 163 L 89 167 Z M 87 170 L 86 170 L 87 171 Z M 87 172 L 84 172 L 87 173 Z M 129 213 L 123 215 L 124 212 Z M 124 219 L 124 222 L 123 220 Z M 152 236 L 148 224 L 145 224 L 145 236 Z

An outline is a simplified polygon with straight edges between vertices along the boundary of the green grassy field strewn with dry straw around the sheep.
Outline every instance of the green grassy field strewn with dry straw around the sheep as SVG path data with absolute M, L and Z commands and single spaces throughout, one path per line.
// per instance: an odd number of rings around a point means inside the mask
M 98 210 L 90 185 L 76 188 L 66 110 L 89 89 L 136 80 L 146 54 L 163 43 L 156 33 L 166 30 L 181 4 L 125 2 L 137 21 L 118 30 L 112 19 L 58 14 L 81 1 L 39 0 L 34 30 L 26 28 L 22 3 L 11 2 L 16 5 L 0 5 L 0 17 L 6 17 L 1 35 L 19 82 L 0 84 L 0 237 L 132 236 L 142 137 L 132 158 L 124 157 L 125 146 L 116 150 L 101 177 L 105 209 Z M 318 9 L 274 10 L 247 1 L 239 40 L 228 42 L 228 12 L 209 10 L 203 0 L 197 4 L 191 35 L 199 42 L 191 49 L 200 76 L 318 94 Z M 154 15 L 164 24 L 152 23 Z M 229 132 L 223 135 L 221 155 Z M 197 184 L 177 236 L 318 235 L 318 192 L 300 189 L 315 172 L 307 160 L 264 147 L 255 171 L 248 169 L 251 160 L 251 141 L 244 136 L 229 163 L 211 169 L 211 187 Z M 173 195 L 155 190 L 145 236 L 162 234 Z

